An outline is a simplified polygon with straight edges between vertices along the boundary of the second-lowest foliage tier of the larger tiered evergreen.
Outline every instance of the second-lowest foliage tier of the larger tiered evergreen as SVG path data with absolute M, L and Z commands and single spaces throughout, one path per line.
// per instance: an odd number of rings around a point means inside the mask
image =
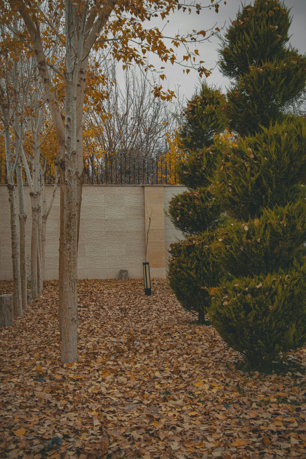
M 306 256 L 306 202 L 265 209 L 260 218 L 217 231 L 216 259 L 234 277 L 267 275 Z

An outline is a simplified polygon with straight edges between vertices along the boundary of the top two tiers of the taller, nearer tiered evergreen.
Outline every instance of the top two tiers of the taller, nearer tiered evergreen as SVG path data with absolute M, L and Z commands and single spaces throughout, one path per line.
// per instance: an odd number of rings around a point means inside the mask
M 240 135 L 282 121 L 305 87 L 306 58 L 286 48 L 290 23 L 284 2 L 256 0 L 239 9 L 222 41 L 220 68 L 234 81 L 226 114 L 229 128 Z

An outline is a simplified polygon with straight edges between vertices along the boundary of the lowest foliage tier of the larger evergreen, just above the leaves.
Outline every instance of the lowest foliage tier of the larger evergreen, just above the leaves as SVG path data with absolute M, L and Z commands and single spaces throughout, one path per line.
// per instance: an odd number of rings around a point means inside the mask
M 214 292 L 209 317 L 229 346 L 256 366 L 306 343 L 306 265 L 240 277 Z

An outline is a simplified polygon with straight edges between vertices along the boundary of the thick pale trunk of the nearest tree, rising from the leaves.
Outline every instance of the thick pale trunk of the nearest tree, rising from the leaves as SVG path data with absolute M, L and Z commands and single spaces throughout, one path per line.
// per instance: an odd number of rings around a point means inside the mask
M 69 70 L 72 62 L 67 63 Z M 66 85 L 66 139 L 64 167 L 61 179 L 61 244 L 59 269 L 59 319 L 61 331 L 61 361 L 77 360 L 78 342 L 78 199 L 81 181 L 78 176 L 76 151 L 76 97 L 73 77 Z M 64 236 L 64 237 L 63 237 Z

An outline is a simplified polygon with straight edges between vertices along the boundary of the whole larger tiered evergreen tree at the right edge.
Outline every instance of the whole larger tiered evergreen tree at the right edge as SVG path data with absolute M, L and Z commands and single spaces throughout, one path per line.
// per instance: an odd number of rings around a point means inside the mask
M 242 138 L 219 162 L 215 191 L 236 218 L 213 252 L 235 278 L 214 292 L 210 315 L 223 339 L 253 366 L 306 342 L 306 120 L 284 116 L 306 82 L 306 57 L 286 48 L 284 2 L 239 11 L 221 50 L 236 80 L 229 125 Z

